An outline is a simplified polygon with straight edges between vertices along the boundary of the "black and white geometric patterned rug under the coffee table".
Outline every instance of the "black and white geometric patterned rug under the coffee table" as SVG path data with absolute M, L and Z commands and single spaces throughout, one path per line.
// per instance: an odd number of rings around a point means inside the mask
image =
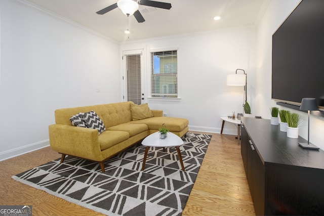
M 140 143 L 104 162 L 67 156 L 12 178 L 77 205 L 107 215 L 181 215 L 212 136 L 187 133 L 180 147 L 151 147 L 141 171 L 145 146 Z

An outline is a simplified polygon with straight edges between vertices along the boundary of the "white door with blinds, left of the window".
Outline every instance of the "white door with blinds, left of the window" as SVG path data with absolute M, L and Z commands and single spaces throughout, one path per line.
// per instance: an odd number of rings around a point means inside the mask
M 135 104 L 142 104 L 145 101 L 144 88 L 142 83 L 142 51 L 123 52 L 124 73 L 127 101 L 133 101 Z

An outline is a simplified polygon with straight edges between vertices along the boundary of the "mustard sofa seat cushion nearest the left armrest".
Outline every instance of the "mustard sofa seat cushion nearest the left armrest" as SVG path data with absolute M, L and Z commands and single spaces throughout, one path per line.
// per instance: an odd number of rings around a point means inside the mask
M 98 136 L 101 151 L 110 148 L 130 138 L 130 134 L 124 131 L 108 131 Z

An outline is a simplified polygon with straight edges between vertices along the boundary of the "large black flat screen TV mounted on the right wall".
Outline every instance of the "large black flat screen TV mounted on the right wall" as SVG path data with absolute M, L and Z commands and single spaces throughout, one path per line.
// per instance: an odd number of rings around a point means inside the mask
M 272 35 L 272 99 L 324 108 L 324 0 L 303 0 Z

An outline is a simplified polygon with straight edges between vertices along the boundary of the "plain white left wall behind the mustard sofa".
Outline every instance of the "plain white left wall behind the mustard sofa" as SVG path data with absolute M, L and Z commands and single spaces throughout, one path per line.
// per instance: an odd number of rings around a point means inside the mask
M 49 145 L 55 109 L 119 102 L 120 68 L 116 42 L 20 1 L 0 9 L 3 160 Z

